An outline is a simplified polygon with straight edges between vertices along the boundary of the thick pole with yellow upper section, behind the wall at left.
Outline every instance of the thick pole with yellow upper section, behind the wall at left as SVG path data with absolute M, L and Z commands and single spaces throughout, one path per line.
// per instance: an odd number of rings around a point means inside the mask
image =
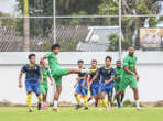
M 30 19 L 29 0 L 24 0 L 24 22 L 23 22 L 23 52 L 30 52 Z

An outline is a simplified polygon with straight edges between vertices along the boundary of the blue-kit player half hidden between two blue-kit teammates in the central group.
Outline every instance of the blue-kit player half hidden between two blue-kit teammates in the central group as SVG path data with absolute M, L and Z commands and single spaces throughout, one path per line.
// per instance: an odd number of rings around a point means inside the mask
M 94 78 L 99 68 L 97 68 L 97 61 L 96 59 L 93 59 L 91 61 L 91 69 L 94 69 L 94 72 L 91 72 L 89 75 L 90 75 L 90 95 L 91 97 L 94 97 L 95 99 L 95 106 L 97 107 L 98 106 L 98 85 L 99 85 L 99 79 L 100 79 L 100 76 L 98 76 L 97 78 Z M 91 99 L 91 98 L 89 98 Z

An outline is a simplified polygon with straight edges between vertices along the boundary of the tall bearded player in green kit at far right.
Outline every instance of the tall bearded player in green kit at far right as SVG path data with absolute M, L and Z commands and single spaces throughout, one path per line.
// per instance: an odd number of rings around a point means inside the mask
M 135 63 L 137 63 L 137 56 L 134 56 L 134 47 L 129 47 L 129 55 L 127 55 L 123 58 L 123 74 L 122 74 L 122 81 L 121 81 L 121 91 L 124 91 L 124 89 L 130 86 L 133 90 L 134 100 L 135 100 L 135 107 L 137 110 L 140 110 L 139 106 L 139 90 L 137 81 L 139 80 L 139 75 L 137 72 Z

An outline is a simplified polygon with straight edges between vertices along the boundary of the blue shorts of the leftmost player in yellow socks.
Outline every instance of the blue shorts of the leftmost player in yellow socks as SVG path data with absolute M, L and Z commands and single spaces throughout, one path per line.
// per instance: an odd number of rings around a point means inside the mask
M 28 92 L 35 92 L 36 96 L 41 95 L 39 81 L 25 81 L 25 86 Z

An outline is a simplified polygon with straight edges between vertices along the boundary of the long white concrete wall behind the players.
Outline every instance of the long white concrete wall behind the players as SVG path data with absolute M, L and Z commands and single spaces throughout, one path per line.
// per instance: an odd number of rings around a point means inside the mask
M 26 56 L 29 53 L 0 53 L 0 101 L 8 100 L 14 103 L 25 103 L 25 88 L 18 88 L 18 75 L 23 64 L 28 63 Z M 35 53 L 37 62 L 44 53 Z M 127 53 L 123 53 L 124 56 Z M 111 55 L 113 66 L 118 59 L 118 53 L 61 53 L 58 59 L 62 67 L 77 67 L 77 59 L 84 59 L 85 66 L 89 67 L 89 62 L 93 58 L 98 61 L 98 66 L 105 64 L 106 55 Z M 141 76 L 139 81 L 140 100 L 154 101 L 163 100 L 163 52 L 137 52 L 138 56 L 138 72 Z M 59 101 L 72 101 L 74 99 L 74 82 L 76 75 L 63 77 L 63 92 Z M 54 87 L 50 87 L 48 101 L 52 101 L 54 95 Z M 133 100 L 132 90 L 127 89 L 126 98 Z M 33 96 L 33 102 L 36 101 Z

